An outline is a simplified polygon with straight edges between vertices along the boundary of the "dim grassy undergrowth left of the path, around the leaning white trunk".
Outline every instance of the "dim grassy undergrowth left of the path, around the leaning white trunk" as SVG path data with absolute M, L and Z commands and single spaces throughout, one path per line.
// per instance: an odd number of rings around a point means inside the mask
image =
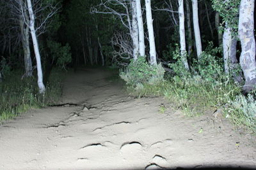
M 53 70 L 44 96 L 38 94 L 36 78 L 21 80 L 20 71 L 12 71 L 0 83 L 0 121 L 17 117 L 30 108 L 42 108 L 60 99 L 63 76 L 61 71 Z

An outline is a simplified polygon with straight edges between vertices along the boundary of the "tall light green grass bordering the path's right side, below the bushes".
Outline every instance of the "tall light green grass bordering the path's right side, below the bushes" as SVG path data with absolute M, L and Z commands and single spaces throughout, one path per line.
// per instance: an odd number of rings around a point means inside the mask
M 131 96 L 164 96 L 174 108 L 180 108 L 188 117 L 216 110 L 232 101 L 239 94 L 239 87 L 234 83 L 212 85 L 200 78 L 186 80 L 175 76 L 156 85 L 141 84 L 140 88 L 127 87 Z

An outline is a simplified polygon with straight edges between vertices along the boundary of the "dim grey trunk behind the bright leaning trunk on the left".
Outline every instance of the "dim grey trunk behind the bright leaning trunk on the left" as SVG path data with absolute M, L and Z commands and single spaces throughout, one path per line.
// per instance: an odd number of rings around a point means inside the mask
M 29 22 L 27 19 L 28 16 L 26 16 L 25 18 L 26 22 Z M 20 16 L 20 32 L 24 52 L 25 76 L 32 76 L 32 62 L 29 48 L 29 27 L 24 23 L 24 19 L 22 16 Z

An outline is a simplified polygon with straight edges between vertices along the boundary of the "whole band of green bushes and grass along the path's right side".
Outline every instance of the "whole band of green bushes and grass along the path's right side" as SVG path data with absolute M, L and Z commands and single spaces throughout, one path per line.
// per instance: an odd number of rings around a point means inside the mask
M 218 52 L 220 49 L 210 44 L 200 56 L 200 62 L 194 60 L 191 70 L 186 72 L 179 50 L 175 50 L 172 57 L 177 62 L 170 64 L 174 74 L 166 74 L 165 78 L 161 74 L 161 78 L 153 83 L 148 80 L 157 77 L 158 73 L 151 72 L 152 67 L 157 66 L 150 66 L 145 60 L 132 61 L 125 71 L 120 72 L 120 77 L 126 82 L 131 96 L 164 96 L 172 107 L 181 109 L 188 117 L 224 108 L 223 117 L 230 118 L 236 127 L 256 132 L 255 100 L 252 96 L 244 97 L 241 87 L 224 73 L 223 61 L 215 57 Z

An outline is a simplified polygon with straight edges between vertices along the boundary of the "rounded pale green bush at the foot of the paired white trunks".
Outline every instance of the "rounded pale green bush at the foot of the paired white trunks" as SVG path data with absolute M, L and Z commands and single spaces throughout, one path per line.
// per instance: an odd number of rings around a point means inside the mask
M 145 57 L 132 60 L 124 71 L 120 71 L 120 77 L 128 86 L 137 87 L 140 84 L 157 84 L 164 80 L 164 68 L 161 64 L 149 65 Z

